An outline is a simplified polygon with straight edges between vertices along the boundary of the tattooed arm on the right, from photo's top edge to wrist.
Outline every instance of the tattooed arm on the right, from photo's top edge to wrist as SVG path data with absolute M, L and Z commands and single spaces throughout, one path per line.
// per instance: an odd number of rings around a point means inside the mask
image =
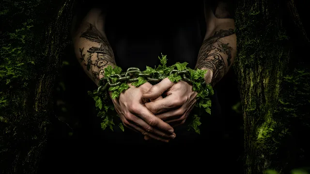
M 236 55 L 234 9 L 231 5 L 224 0 L 205 0 L 204 3 L 207 31 L 196 68 L 208 70 L 205 81 L 212 86 L 227 73 Z

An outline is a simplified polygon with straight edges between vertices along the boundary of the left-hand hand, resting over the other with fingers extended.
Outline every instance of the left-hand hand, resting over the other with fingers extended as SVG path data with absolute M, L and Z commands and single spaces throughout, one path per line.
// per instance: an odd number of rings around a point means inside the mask
M 140 87 L 132 86 L 131 83 L 128 85 L 129 88 L 122 92 L 119 98 L 112 100 L 124 126 L 163 142 L 175 138 L 173 128 L 144 105 L 148 101 L 142 98 L 142 94 L 152 85 L 148 82 Z

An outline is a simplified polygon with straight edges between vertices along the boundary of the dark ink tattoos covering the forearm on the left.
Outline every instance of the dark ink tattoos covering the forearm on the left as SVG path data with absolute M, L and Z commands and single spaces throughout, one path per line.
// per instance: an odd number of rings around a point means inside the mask
M 86 38 L 89 41 L 100 44 L 100 47 L 91 47 L 88 52 L 88 57 L 85 60 L 85 54 L 82 54 L 84 48 L 80 48 L 81 63 L 84 61 L 84 66 L 88 71 L 92 71 L 93 80 L 99 80 L 99 74 L 104 75 L 104 68 L 108 65 L 115 65 L 115 59 L 112 48 L 106 38 L 92 24 L 88 24 L 88 28 L 82 32 L 80 37 Z

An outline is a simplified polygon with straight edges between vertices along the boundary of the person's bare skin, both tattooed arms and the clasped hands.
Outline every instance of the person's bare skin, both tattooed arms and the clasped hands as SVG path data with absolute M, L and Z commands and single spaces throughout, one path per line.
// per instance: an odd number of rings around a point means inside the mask
M 205 0 L 204 7 L 207 31 L 196 68 L 208 70 L 205 82 L 215 86 L 228 72 L 236 55 L 234 20 L 230 5 L 222 0 Z M 92 9 L 73 26 L 77 26 L 72 29 L 76 56 L 85 73 L 98 85 L 99 79 L 104 77 L 104 68 L 115 65 L 104 30 L 105 13 Z M 163 99 L 163 93 L 168 97 Z M 176 136 L 172 126 L 185 123 L 196 102 L 196 95 L 190 84 L 184 81 L 171 83 L 164 79 L 155 86 L 149 83 L 131 86 L 113 103 L 126 127 L 142 133 L 145 139 L 168 142 Z

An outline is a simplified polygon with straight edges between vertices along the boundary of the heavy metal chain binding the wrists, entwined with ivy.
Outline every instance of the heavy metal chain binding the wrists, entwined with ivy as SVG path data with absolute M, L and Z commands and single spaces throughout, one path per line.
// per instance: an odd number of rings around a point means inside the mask
M 155 72 L 160 74 L 160 72 Z M 182 80 L 188 82 L 188 83 L 193 83 L 193 81 L 187 77 L 189 74 L 188 70 L 172 70 L 170 74 L 176 73 L 177 75 L 181 75 Z M 122 84 L 123 81 L 127 82 L 137 82 L 138 77 L 144 77 L 146 78 L 147 81 L 151 82 L 160 82 L 162 79 L 164 79 L 164 76 L 159 76 L 159 78 L 153 78 L 151 77 L 151 74 L 148 73 L 143 73 L 140 71 L 139 68 L 131 67 L 128 68 L 126 72 L 121 73 L 121 74 L 111 74 L 110 77 L 112 78 L 117 78 L 115 83 L 112 83 L 112 81 L 108 77 L 103 77 L 99 80 L 98 83 L 98 89 L 97 93 L 102 93 L 105 91 L 108 87 L 116 87 Z

